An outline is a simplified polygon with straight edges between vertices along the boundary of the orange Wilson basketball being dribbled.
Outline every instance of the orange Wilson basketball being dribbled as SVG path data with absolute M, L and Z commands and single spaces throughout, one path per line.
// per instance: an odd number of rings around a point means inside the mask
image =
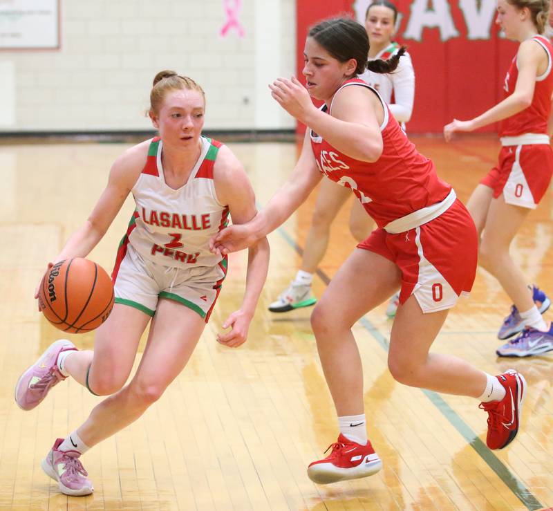
M 39 306 L 48 321 L 68 333 L 100 326 L 113 308 L 113 284 L 102 266 L 75 257 L 46 271 L 39 288 Z

